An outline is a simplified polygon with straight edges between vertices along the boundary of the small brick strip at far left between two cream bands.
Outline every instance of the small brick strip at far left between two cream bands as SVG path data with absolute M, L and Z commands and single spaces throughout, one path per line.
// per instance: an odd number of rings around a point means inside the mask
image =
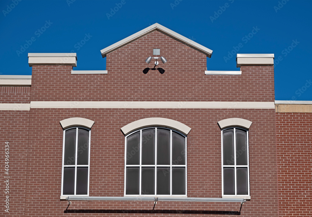
M 31 87 L 0 87 L 0 103 L 29 103 Z

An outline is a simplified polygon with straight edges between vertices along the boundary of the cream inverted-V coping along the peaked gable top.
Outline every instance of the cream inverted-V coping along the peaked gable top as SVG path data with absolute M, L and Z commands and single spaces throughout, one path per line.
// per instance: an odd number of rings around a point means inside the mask
M 137 39 L 139 39 L 145 35 L 148 35 L 149 33 L 154 32 L 154 31 L 159 31 L 165 35 L 168 35 L 169 37 L 171 37 L 171 38 L 173 38 L 173 39 L 175 39 L 175 40 L 177 40 L 177 41 L 179 41 L 185 45 L 188 45 L 189 47 L 207 55 L 207 57 L 209 57 L 209 58 L 211 57 L 212 50 L 196 43 L 193 40 L 190 40 L 190 39 L 184 37 L 183 35 L 180 35 L 180 34 L 174 32 L 174 31 L 172 31 L 172 30 L 170 30 L 170 29 L 168 29 L 168 28 L 166 28 L 166 27 L 164 27 L 158 23 L 155 23 L 155 24 L 153 24 L 153 25 L 151 25 L 151 26 L 149 26 L 149 27 L 137 32 L 137 33 L 134 33 L 133 35 L 130 35 L 129 37 L 127 37 L 123 40 L 116 42 L 113 45 L 110 45 L 110 46 L 104 48 L 103 50 L 101 50 L 102 57 L 104 58 L 110 52 L 113 52 L 113 51 L 123 47 L 124 45 L 127 45 L 127 44 L 129 44 L 129 43 L 131 43 L 131 42 L 133 42 L 133 41 L 135 41 L 135 40 L 137 40 Z

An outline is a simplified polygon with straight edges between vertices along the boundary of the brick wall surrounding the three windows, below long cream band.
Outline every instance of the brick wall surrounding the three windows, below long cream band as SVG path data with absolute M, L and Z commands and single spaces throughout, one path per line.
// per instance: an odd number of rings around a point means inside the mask
M 120 128 L 147 117 L 164 117 L 192 128 L 188 134 L 189 197 L 222 196 L 221 130 L 217 121 L 241 117 L 249 131 L 250 191 L 241 216 L 277 216 L 274 109 L 32 109 L 30 115 L 26 216 L 150 216 L 153 202 L 60 201 L 63 130 L 60 120 L 84 117 L 91 129 L 90 196 L 123 196 L 124 135 Z M 265 206 L 265 208 L 264 208 Z M 238 215 L 239 203 L 163 202 L 153 215 Z M 73 214 L 69 214 L 73 213 Z

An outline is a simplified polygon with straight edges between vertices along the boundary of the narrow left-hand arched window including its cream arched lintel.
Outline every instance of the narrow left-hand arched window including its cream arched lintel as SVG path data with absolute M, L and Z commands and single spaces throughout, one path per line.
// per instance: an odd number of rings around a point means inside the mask
M 90 128 L 94 121 L 85 118 L 62 120 L 62 196 L 89 195 L 90 174 Z

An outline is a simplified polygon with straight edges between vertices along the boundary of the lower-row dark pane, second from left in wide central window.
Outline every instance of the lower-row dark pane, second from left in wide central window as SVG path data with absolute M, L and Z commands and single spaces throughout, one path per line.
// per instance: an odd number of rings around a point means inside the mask
M 155 194 L 155 167 L 142 167 L 141 194 Z

